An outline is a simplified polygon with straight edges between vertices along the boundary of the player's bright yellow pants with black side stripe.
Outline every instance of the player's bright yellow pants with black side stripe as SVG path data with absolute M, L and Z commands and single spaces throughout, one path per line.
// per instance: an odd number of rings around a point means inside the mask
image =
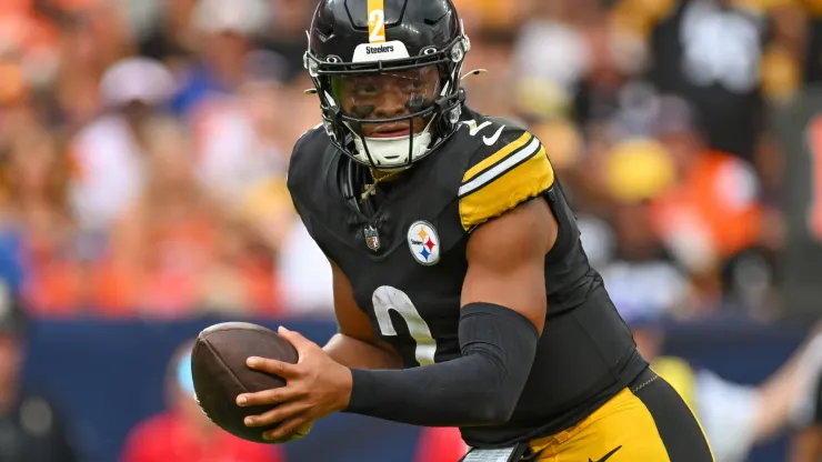
M 584 421 L 530 445 L 540 462 L 713 462 L 693 412 L 650 370 Z

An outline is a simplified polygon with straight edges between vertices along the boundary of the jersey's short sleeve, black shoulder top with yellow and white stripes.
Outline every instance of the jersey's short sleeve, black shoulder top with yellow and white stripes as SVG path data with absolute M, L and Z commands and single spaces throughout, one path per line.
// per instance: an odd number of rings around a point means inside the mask
M 459 190 L 465 231 L 541 195 L 554 183 L 545 148 L 528 131 L 509 129 L 485 148 L 471 158 Z

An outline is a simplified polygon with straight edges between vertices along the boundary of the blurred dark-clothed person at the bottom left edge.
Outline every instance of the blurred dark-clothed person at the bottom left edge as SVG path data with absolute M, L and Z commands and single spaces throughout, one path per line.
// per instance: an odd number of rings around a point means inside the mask
M 28 319 L 18 300 L 0 285 L 0 460 L 80 460 L 63 415 L 47 398 L 21 385 Z

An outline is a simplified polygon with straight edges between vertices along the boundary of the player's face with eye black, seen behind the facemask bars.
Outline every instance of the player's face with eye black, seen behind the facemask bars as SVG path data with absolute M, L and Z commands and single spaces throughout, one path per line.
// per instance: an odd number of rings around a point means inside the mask
M 422 111 L 433 106 L 440 87 L 439 70 L 429 66 L 408 71 L 332 79 L 334 98 L 345 116 L 358 119 L 393 119 Z M 419 133 L 430 118 L 414 118 L 391 123 L 362 123 L 362 134 L 369 138 L 407 137 Z

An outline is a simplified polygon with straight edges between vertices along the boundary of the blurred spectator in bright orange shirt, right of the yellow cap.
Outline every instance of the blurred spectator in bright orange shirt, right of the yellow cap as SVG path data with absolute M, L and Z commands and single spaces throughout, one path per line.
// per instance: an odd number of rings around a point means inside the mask
M 655 132 L 675 165 L 674 184 L 653 198 L 651 222 L 669 251 L 705 292 L 719 292 L 725 261 L 762 234 L 760 182 L 751 164 L 712 149 L 704 120 L 675 97 L 659 102 Z M 712 289 L 713 288 L 713 289 Z

